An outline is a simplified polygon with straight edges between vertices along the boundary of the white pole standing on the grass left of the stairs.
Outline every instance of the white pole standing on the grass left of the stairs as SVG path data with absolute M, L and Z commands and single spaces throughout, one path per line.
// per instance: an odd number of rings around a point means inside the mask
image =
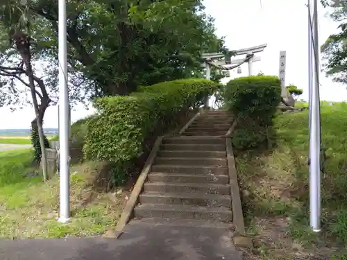
M 58 221 L 70 218 L 69 207 L 69 94 L 67 90 L 67 13 L 66 0 L 59 0 L 58 8 L 58 66 L 59 66 L 59 159 L 60 214 Z

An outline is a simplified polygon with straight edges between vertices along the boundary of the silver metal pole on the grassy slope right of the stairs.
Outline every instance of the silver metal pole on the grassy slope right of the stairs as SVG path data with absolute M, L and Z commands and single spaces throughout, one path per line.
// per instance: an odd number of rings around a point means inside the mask
M 310 1 L 309 1 L 309 10 Z M 319 109 L 319 43 L 318 43 L 318 2 L 314 0 L 313 8 L 313 58 L 312 92 L 310 104 L 310 225 L 314 232 L 321 230 L 321 134 Z M 309 57 L 309 62 L 311 58 Z M 309 75 L 310 76 L 310 75 Z

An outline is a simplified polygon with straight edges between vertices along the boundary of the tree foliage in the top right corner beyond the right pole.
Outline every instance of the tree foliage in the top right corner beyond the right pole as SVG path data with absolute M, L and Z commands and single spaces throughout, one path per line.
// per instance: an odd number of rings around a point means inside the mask
M 332 34 L 321 46 L 328 76 L 340 83 L 347 83 L 347 2 L 325 1 L 332 8 L 330 17 L 339 23 L 339 33 Z

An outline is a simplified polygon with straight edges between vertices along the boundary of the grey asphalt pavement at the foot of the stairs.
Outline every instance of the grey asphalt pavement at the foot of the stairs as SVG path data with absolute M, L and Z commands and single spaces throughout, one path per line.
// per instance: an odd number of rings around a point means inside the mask
M 241 260 L 224 229 L 130 225 L 119 239 L 0 241 L 1 260 Z

